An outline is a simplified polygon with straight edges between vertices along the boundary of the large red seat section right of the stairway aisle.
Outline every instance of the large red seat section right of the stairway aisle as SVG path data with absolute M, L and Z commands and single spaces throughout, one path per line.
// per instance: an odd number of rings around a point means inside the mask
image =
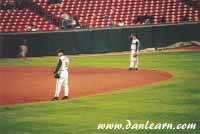
M 200 20 L 200 11 L 181 0 L 63 0 L 57 5 L 49 5 L 47 1 L 33 0 L 33 3 L 53 19 L 59 20 L 66 11 L 90 28 L 108 27 L 119 21 L 131 26 L 136 24 L 137 16 L 146 14 L 154 16 L 154 24 L 160 23 L 162 17 L 166 18 L 166 23 L 181 22 L 183 16 L 189 21 Z

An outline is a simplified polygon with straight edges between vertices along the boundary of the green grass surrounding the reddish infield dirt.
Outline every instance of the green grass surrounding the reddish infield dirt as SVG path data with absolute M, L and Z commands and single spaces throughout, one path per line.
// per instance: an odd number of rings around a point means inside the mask
M 71 66 L 127 68 L 129 55 L 73 57 Z M 173 78 L 70 101 L 0 107 L 1 134 L 199 134 L 200 53 L 140 55 L 140 67 L 168 71 Z M 0 65 L 54 66 L 56 58 L 0 60 Z M 123 77 L 123 76 L 122 76 Z M 12 83 L 11 83 L 12 84 Z M 16 89 L 17 90 L 17 89 Z M 73 89 L 72 89 L 73 90 Z M 98 123 L 197 123 L 195 130 L 97 130 Z

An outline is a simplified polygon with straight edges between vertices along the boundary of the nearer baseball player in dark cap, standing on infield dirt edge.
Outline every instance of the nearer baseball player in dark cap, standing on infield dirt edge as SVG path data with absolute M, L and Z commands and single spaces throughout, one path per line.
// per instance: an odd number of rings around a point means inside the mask
M 64 50 L 58 49 L 57 54 L 59 61 L 54 71 L 54 77 L 56 78 L 56 90 L 55 96 L 52 101 L 59 100 L 59 94 L 61 87 L 64 87 L 64 97 L 62 100 L 68 99 L 69 86 L 68 86 L 68 67 L 69 67 L 69 58 L 64 55 Z

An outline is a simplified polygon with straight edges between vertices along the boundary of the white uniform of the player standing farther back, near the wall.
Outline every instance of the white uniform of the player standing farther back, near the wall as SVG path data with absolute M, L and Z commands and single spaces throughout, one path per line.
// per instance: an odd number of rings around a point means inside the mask
M 139 56 L 134 57 L 135 53 L 139 53 L 140 41 L 132 39 L 131 41 L 131 55 L 130 55 L 130 68 L 138 68 Z

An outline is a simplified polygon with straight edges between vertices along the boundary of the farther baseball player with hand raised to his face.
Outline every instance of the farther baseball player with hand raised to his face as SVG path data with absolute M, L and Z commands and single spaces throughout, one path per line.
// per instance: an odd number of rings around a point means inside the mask
M 134 33 L 131 34 L 129 37 L 130 43 L 131 43 L 131 55 L 130 55 L 130 66 L 129 70 L 138 70 L 139 65 L 139 47 L 140 47 L 140 41 L 137 39 L 136 35 Z

